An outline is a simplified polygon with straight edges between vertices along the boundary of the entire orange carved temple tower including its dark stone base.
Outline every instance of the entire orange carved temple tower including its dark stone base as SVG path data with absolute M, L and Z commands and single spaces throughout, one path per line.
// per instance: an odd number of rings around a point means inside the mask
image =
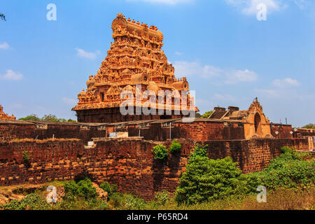
M 182 101 L 190 101 L 189 83 L 186 77 L 177 79 L 174 75 L 174 66 L 167 62 L 163 46 L 163 34 L 155 26 L 148 25 L 126 18 L 118 13 L 111 25 L 114 43 L 107 52 L 106 59 L 95 76 L 87 80 L 87 90 L 78 94 L 78 104 L 72 109 L 76 111 L 78 122 L 82 123 L 118 123 L 131 120 L 159 120 L 183 118 L 181 112 Z M 140 86 L 140 87 L 139 87 Z M 134 94 L 151 90 L 156 94 L 156 104 L 149 105 L 165 113 L 145 115 L 135 113 L 137 107 L 143 107 L 148 99 L 141 98 L 140 104 L 134 103 L 134 114 L 123 116 L 120 106 L 123 100 L 120 94 L 128 90 Z M 172 97 L 163 95 L 163 103 L 158 101 L 160 90 L 177 94 Z M 187 92 L 186 95 L 183 92 Z M 183 95 L 182 95 L 183 94 Z M 185 99 L 183 99 L 186 96 Z M 162 99 L 162 97 L 161 97 Z M 180 100 L 179 104 L 174 103 Z M 177 101 L 176 101 L 177 102 Z M 170 106 L 170 107 L 167 107 Z M 190 111 L 198 111 L 195 106 Z M 167 113 L 167 109 L 169 113 Z M 186 115 L 186 114 L 185 114 Z

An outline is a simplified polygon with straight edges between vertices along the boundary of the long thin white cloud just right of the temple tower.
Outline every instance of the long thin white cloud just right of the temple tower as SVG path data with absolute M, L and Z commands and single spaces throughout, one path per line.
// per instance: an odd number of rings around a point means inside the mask
M 221 69 L 199 62 L 174 62 L 176 74 L 183 76 L 200 76 L 202 78 L 219 78 L 224 84 L 248 83 L 257 80 L 258 75 L 248 69 Z

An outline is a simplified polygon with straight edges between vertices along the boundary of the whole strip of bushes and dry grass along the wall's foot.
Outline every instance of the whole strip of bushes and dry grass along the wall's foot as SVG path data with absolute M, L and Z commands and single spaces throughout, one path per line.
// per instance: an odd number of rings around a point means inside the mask
M 104 182 L 100 187 L 107 198 L 97 197 L 92 181 L 49 183 L 64 187 L 64 197 L 56 204 L 45 201 L 44 188 L 0 205 L 0 210 L 209 210 L 209 209 L 315 209 L 315 160 L 311 153 L 298 153 L 294 148 L 281 148 L 279 158 L 262 172 L 241 174 L 231 158 L 210 160 L 207 146 L 197 145 L 191 153 L 186 172 L 174 197 L 158 192 L 151 202 L 131 194 L 120 193 L 116 185 Z M 267 203 L 256 200 L 258 186 L 267 187 Z M 1 191 L 0 191 L 1 192 Z M 18 190 L 15 190 L 18 193 Z M 25 195 L 26 190 L 21 194 Z

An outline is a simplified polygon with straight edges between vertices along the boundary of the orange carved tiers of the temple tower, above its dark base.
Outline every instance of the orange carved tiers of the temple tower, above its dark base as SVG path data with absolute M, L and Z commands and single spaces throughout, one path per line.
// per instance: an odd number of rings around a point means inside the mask
M 114 43 L 97 74 L 87 80 L 87 90 L 78 94 L 78 104 L 73 111 L 118 108 L 123 102 L 120 93 L 130 90 L 135 94 L 136 85 L 141 85 L 141 92 L 153 90 L 157 96 L 158 90 L 178 90 L 179 94 L 189 91 L 187 79 L 177 79 L 174 66 L 167 62 L 161 49 L 163 34 L 157 27 L 127 20 L 118 13 L 111 28 Z M 190 94 L 188 106 L 189 99 Z M 143 99 L 142 104 L 146 100 Z M 180 110 L 174 106 L 174 100 L 171 104 L 172 110 Z M 158 106 L 157 97 L 156 108 Z

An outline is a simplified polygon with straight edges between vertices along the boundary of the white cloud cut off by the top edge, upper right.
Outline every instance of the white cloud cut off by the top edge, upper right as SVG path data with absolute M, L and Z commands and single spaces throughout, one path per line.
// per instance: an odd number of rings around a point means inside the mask
M 229 5 L 237 7 L 242 13 L 246 15 L 256 15 L 258 13 L 257 6 L 259 4 L 265 4 L 267 6 L 267 12 L 272 13 L 282 8 L 286 8 L 286 5 L 282 0 L 225 0 Z

